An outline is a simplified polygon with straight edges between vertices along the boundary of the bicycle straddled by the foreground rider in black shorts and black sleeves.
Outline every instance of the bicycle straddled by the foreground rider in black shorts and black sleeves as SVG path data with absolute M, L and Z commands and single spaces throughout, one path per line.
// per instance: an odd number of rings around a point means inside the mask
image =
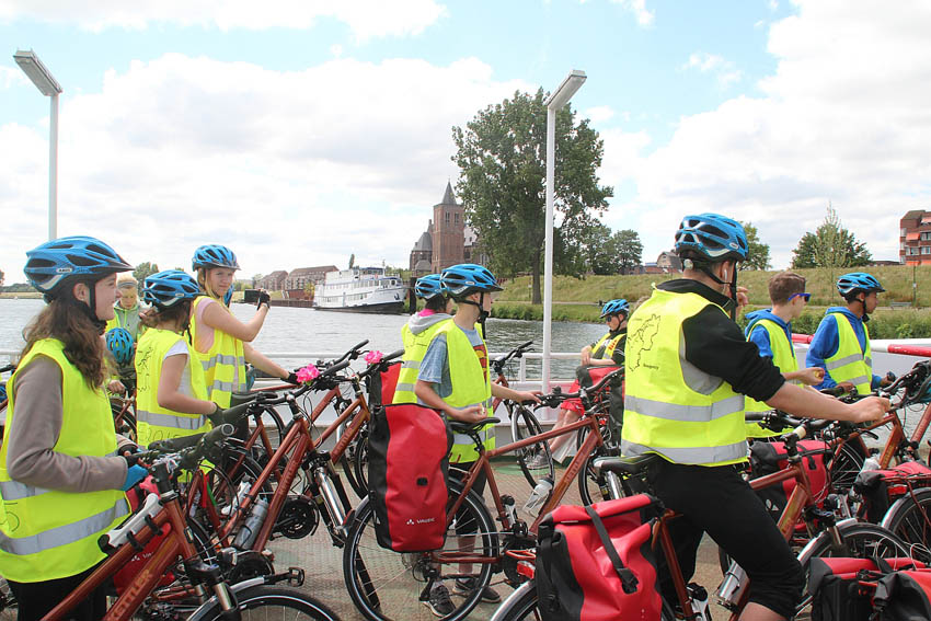
M 758 417 L 760 421 L 769 421 L 786 426 L 786 423 L 795 422 L 791 417 L 766 416 Z M 755 417 L 748 415 L 748 419 Z M 796 429 L 784 436 L 789 451 L 789 463 L 785 469 L 756 479 L 750 485 L 757 490 L 770 485 L 779 485 L 783 481 L 794 479 L 795 487 L 789 504 L 783 509 L 779 520 L 779 529 L 786 540 L 793 537 L 795 524 L 803 517 L 817 518 L 823 528 L 821 532 L 812 539 L 800 552 L 798 560 L 803 568 L 807 568 L 811 560 L 817 556 L 842 555 L 842 556 L 888 556 L 905 555 L 907 545 L 899 541 L 893 533 L 875 525 L 859 524 L 855 519 L 836 521 L 831 511 L 819 509 L 815 504 L 808 482 L 808 475 L 804 460 L 798 455 L 796 444 L 806 437 L 809 430 L 826 426 L 830 422 L 804 423 Z M 774 425 L 773 425 L 774 426 Z M 646 474 L 653 464 L 662 457 L 648 453 L 633 458 L 601 458 L 596 461 L 595 467 L 604 473 L 608 481 L 611 498 L 621 498 L 630 495 L 631 481 L 637 481 L 641 485 L 645 483 Z M 674 621 L 677 618 L 710 620 L 706 608 L 706 591 L 698 585 L 687 585 L 679 567 L 668 531 L 668 521 L 677 515 L 666 509 L 654 527 L 653 547 L 659 548 L 666 559 L 676 590 L 678 608 L 674 609 L 671 602 L 665 601 L 662 611 L 663 621 Z M 537 588 L 532 580 L 533 568 L 532 553 L 526 551 L 513 553 L 515 562 L 519 565 L 521 574 L 530 578 L 520 585 L 495 611 L 492 621 L 518 621 L 525 619 L 539 619 Z M 747 580 L 740 577 L 742 572 L 733 564 L 724 576 L 717 590 L 722 603 L 732 612 L 732 621 L 739 618 L 739 613 L 747 602 Z M 802 612 L 811 602 L 811 598 L 802 601 L 797 611 Z

